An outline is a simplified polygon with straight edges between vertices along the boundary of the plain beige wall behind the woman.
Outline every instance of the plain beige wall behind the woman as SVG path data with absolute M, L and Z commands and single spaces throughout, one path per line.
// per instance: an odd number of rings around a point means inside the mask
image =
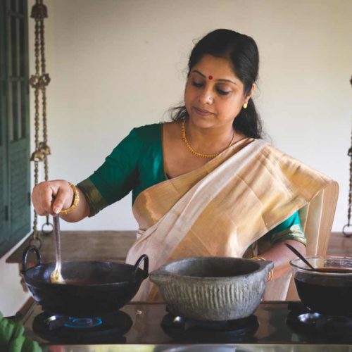
M 34 0 L 29 2 L 32 6 Z M 346 223 L 346 153 L 351 141 L 351 1 L 44 3 L 49 10 L 46 67 L 51 76 L 52 179 L 79 182 L 132 127 L 163 120 L 165 111 L 182 99 L 193 40 L 225 27 L 256 39 L 260 51 L 256 102 L 272 143 L 339 182 L 333 229 L 341 230 Z M 33 62 L 31 66 L 33 72 Z M 137 224 L 127 196 L 92 219 L 61 227 L 132 230 Z M 0 270 L 4 281 L 8 269 L 0 263 Z

